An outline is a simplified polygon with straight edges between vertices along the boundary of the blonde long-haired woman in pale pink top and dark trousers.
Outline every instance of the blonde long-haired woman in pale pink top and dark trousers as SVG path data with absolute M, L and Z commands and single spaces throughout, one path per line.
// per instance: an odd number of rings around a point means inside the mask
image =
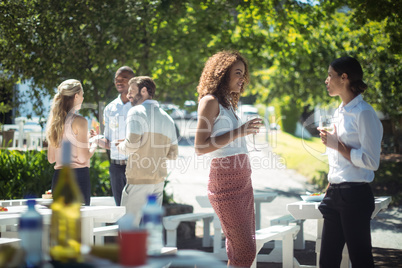
M 69 79 L 61 83 L 57 91 L 46 130 L 46 138 L 49 142 L 47 159 L 51 164 L 56 163 L 52 190 L 57 184 L 59 171 L 62 168 L 61 142 L 63 139 L 68 139 L 71 142 L 71 167 L 75 171 L 85 205 L 89 206 L 91 198 L 89 159 L 96 147 L 89 146 L 88 121 L 76 114 L 84 101 L 84 90 L 80 81 Z

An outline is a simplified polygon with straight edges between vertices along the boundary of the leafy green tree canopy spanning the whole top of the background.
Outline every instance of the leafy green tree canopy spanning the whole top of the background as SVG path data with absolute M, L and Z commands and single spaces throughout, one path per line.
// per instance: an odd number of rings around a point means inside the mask
M 399 122 L 401 5 L 380 2 L 3 1 L 1 72 L 12 81 L 32 79 L 31 99 L 79 79 L 86 103 L 94 104 L 82 112 L 99 116 L 116 96 L 113 75 L 122 65 L 152 76 L 158 99 L 182 104 L 196 99 L 205 60 L 237 49 L 250 63 L 246 94 L 259 103 L 289 96 L 299 107 L 314 107 L 339 102 L 324 80 L 329 63 L 348 54 L 363 65 L 367 100 Z

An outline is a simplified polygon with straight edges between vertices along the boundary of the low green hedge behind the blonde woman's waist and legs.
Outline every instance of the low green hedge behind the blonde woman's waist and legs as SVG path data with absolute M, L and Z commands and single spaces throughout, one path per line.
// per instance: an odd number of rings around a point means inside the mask
M 41 197 L 51 189 L 53 173 L 47 151 L 0 150 L 0 199 Z M 109 163 L 104 153 L 91 158 L 90 176 L 92 195 L 111 195 Z

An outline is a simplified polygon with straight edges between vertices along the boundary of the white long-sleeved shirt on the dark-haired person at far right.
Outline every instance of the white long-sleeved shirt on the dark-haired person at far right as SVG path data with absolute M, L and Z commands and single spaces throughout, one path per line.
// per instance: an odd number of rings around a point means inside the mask
M 328 148 L 330 183 L 372 182 L 380 165 L 383 128 L 373 107 L 361 95 L 343 102 L 333 117 L 339 140 L 352 148 L 351 161 Z

